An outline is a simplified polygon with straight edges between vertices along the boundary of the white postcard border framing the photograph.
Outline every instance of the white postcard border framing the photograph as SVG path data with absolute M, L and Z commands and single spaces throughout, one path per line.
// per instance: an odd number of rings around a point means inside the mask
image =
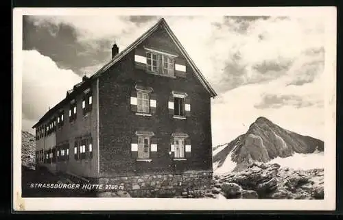
M 23 18 L 32 15 L 213 15 L 320 16 L 326 18 L 324 200 L 274 199 L 147 199 L 147 198 L 22 198 L 21 91 Z M 335 210 L 336 8 L 15 8 L 13 11 L 13 205 L 14 210 Z M 314 116 L 316 117 L 316 116 Z

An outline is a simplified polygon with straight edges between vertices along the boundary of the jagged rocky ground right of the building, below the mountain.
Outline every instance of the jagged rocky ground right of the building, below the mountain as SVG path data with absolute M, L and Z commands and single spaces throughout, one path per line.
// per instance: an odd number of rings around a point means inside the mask
M 251 164 L 244 171 L 214 179 L 212 193 L 227 199 L 324 199 L 324 169 L 296 171 L 279 164 Z

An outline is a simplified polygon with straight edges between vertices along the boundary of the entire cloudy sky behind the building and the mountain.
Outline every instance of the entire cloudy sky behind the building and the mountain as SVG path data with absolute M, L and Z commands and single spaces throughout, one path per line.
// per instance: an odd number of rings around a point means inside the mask
M 110 60 L 161 16 L 24 16 L 23 130 L 62 100 L 82 75 Z M 213 145 L 264 116 L 324 138 L 324 23 L 318 17 L 164 16 L 217 91 Z

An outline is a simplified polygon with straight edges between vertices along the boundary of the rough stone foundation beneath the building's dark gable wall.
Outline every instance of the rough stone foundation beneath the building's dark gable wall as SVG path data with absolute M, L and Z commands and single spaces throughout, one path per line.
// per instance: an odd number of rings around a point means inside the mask
M 126 191 L 131 197 L 196 197 L 213 187 L 213 173 L 193 171 L 180 174 L 135 175 L 99 178 L 100 192 Z

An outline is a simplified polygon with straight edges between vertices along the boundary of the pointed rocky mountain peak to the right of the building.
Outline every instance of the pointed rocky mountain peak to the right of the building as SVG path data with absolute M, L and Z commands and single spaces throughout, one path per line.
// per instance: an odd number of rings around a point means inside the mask
M 241 171 L 253 162 L 265 163 L 278 157 L 315 151 L 324 151 L 322 140 L 285 130 L 265 117 L 258 117 L 245 134 L 237 136 L 213 155 L 213 164 L 221 167 L 229 158 L 237 164 L 233 171 Z

